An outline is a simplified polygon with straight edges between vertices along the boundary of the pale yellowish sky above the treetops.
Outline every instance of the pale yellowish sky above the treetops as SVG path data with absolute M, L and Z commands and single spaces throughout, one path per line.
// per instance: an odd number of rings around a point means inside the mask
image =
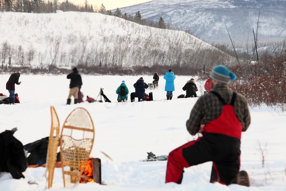
M 60 1 L 65 1 L 65 0 L 60 0 Z M 69 1 L 74 4 L 84 4 L 85 2 L 85 0 L 69 0 Z M 103 3 L 106 10 L 112 10 L 116 9 L 117 7 L 118 8 L 128 7 L 131 5 L 140 4 L 148 1 L 151 0 L 88 0 L 88 3 L 92 4 L 94 9 L 96 9 L 96 6 L 99 9 L 100 5 Z

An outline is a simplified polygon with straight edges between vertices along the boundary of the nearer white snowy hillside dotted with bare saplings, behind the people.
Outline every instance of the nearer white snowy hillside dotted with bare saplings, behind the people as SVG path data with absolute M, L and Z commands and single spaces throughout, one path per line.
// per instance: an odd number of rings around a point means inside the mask
M 213 64 L 233 57 L 183 31 L 136 24 L 100 13 L 0 13 L 1 63 L 132 67 Z M 215 55 L 215 56 L 214 56 Z M 23 61 L 24 58 L 24 61 Z M 201 58 L 206 59 L 204 63 Z

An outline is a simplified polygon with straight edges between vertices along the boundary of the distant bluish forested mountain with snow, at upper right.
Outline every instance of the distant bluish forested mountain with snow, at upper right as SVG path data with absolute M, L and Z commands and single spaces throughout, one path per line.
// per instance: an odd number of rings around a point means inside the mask
M 286 36 L 285 0 L 154 0 L 120 10 L 132 15 L 139 10 L 144 19 L 156 21 L 162 16 L 208 43 L 230 42 L 226 26 L 234 41 L 253 40 L 260 10 L 258 40 Z

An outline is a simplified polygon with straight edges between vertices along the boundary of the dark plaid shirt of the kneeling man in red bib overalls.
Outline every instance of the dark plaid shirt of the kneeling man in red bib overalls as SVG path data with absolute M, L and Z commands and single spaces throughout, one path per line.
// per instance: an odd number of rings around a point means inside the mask
M 219 93 L 226 104 L 230 104 L 233 91 L 228 88 L 227 84 L 217 84 L 212 91 Z M 187 130 L 191 135 L 195 135 L 200 129 L 200 124 L 207 124 L 218 118 L 222 110 L 223 103 L 217 96 L 212 93 L 201 96 L 186 122 Z M 240 93 L 237 93 L 234 101 L 234 112 L 243 127 L 242 131 L 246 131 L 250 124 L 250 114 L 246 99 Z

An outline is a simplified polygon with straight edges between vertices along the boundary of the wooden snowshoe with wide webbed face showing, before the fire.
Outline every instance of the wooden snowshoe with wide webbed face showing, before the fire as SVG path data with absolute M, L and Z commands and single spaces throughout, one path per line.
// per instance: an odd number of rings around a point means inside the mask
M 74 109 L 66 118 L 60 135 L 60 157 L 64 187 L 79 183 L 94 142 L 94 124 L 84 108 Z

